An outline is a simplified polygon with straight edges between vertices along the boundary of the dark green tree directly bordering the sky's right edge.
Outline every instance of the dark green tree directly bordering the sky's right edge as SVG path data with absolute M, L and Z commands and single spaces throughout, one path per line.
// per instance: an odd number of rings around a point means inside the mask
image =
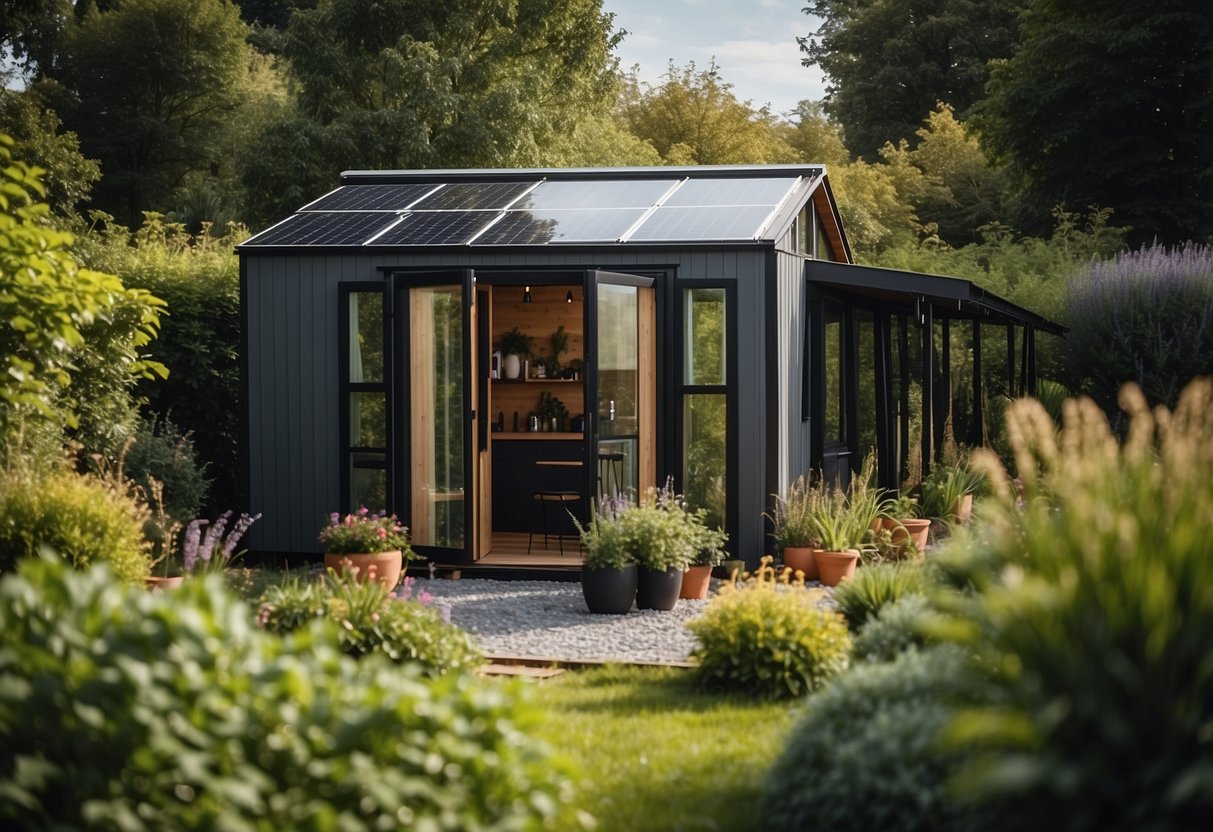
M 961 118 L 981 99 L 986 64 L 1015 46 L 1025 0 L 813 0 L 822 21 L 799 38 L 804 65 L 828 78 L 826 113 L 847 147 L 869 159 L 885 142 L 917 143 L 915 131 L 936 102 Z

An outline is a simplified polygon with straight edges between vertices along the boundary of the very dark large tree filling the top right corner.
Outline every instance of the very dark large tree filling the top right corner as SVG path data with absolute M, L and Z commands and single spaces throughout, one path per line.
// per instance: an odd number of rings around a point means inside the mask
M 1023 189 L 1027 227 L 1052 209 L 1111 207 L 1134 243 L 1213 228 L 1213 5 L 1040 0 L 980 109 L 986 147 Z

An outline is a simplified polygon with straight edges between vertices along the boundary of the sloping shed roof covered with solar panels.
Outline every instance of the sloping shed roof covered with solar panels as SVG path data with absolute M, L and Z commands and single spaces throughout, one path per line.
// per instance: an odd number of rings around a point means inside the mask
M 275 226 L 251 246 L 511 246 L 727 243 L 770 239 L 776 211 L 820 169 L 653 169 L 611 171 L 417 171 L 343 184 Z

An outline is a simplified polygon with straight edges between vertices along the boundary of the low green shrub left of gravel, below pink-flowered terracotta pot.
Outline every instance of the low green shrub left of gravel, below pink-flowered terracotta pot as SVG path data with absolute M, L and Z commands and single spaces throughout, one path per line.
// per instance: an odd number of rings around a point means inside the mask
M 342 651 L 378 653 L 420 665 L 431 676 L 479 665 L 483 657 L 472 637 L 450 625 L 426 593 L 412 600 L 412 579 L 405 579 L 400 594 L 392 594 L 378 581 L 359 582 L 346 572 L 292 577 L 261 597 L 257 621 L 270 632 L 290 633 L 328 619 L 337 623 L 334 632 Z

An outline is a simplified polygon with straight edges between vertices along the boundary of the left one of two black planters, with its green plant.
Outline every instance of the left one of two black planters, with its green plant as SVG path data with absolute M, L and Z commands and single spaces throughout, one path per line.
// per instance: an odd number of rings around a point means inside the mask
M 591 612 L 623 615 L 636 602 L 636 555 L 627 538 L 627 528 L 621 522 L 628 509 L 626 498 L 604 497 L 588 525 L 582 526 L 573 518 L 586 547 L 581 563 L 581 594 Z

